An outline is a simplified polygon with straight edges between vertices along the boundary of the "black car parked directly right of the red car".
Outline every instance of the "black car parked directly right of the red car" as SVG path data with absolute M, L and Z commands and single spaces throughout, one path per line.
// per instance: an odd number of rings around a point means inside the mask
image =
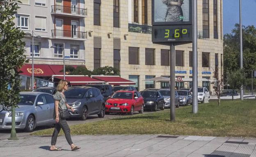
M 157 111 L 158 108 L 161 110 L 165 109 L 165 100 L 159 91 L 146 90 L 140 91 L 140 94 L 144 99 L 144 110 Z

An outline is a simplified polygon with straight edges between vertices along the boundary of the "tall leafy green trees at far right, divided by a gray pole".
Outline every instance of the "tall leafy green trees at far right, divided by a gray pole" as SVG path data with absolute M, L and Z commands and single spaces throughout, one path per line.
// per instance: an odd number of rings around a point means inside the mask
M 242 27 L 243 68 L 245 76 L 251 77 L 251 70 L 256 69 L 256 28 L 252 26 Z M 229 71 L 240 68 L 240 29 L 235 24 L 232 33 L 224 35 L 224 75 Z M 225 77 L 226 78 L 226 77 Z

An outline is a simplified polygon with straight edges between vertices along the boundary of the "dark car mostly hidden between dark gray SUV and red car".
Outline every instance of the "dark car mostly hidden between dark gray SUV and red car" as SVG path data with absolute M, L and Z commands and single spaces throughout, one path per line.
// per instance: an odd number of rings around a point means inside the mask
M 112 94 L 114 94 L 113 88 L 110 84 L 89 84 L 86 86 L 98 88 L 104 97 L 104 101 L 106 101 L 111 97 Z

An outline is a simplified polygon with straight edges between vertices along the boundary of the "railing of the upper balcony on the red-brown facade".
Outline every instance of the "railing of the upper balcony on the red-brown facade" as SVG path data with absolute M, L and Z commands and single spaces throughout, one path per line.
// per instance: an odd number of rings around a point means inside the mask
M 70 13 L 75 15 L 87 15 L 87 9 L 66 7 L 62 5 L 52 5 L 52 13 Z

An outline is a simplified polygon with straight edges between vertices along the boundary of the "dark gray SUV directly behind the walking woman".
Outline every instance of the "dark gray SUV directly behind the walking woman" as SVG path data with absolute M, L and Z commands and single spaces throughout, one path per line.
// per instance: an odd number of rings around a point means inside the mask
M 105 116 L 105 102 L 98 88 L 88 86 L 71 87 L 65 92 L 66 101 L 75 110 L 69 110 L 70 117 L 87 119 L 89 115 Z

